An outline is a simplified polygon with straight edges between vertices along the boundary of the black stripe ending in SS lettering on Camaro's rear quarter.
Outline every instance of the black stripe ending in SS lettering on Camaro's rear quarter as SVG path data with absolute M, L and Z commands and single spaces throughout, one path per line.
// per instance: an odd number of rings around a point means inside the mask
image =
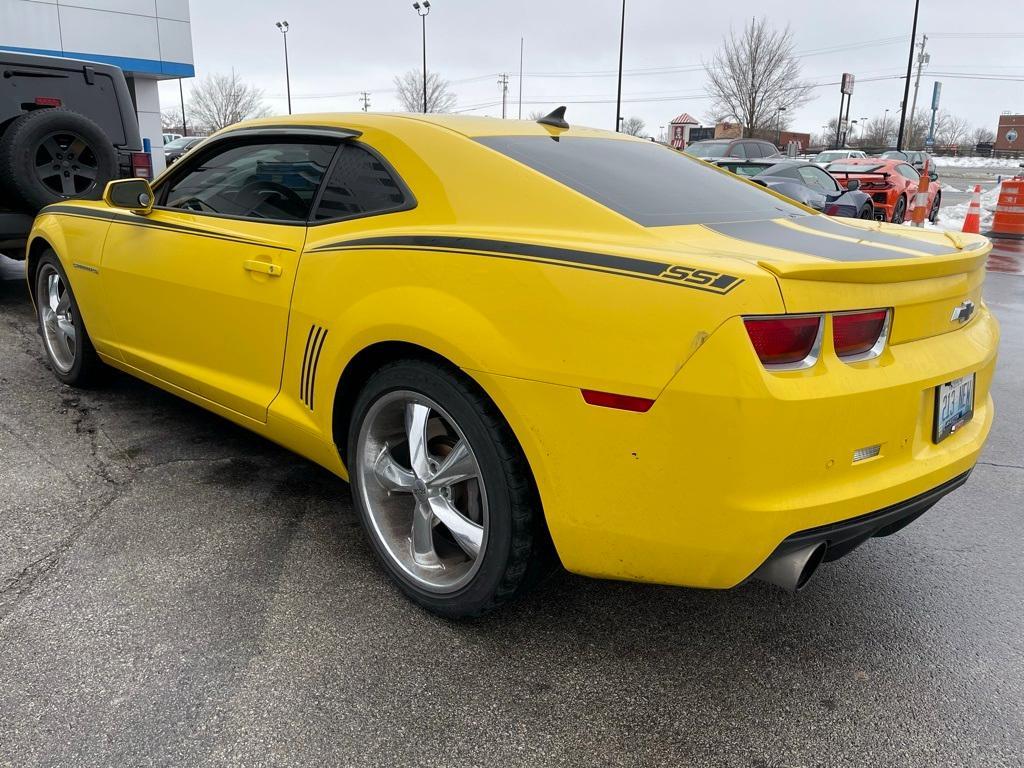
M 697 269 L 629 256 L 577 251 L 569 248 L 542 246 L 534 243 L 516 243 L 486 238 L 463 238 L 436 234 L 401 234 L 378 238 L 359 238 L 327 243 L 309 249 L 308 253 L 327 253 L 366 249 L 423 249 L 429 248 L 451 253 L 517 259 L 555 266 L 571 266 L 627 278 L 640 278 L 669 285 L 682 286 L 696 291 L 727 294 L 739 286 L 740 278 L 710 269 Z

